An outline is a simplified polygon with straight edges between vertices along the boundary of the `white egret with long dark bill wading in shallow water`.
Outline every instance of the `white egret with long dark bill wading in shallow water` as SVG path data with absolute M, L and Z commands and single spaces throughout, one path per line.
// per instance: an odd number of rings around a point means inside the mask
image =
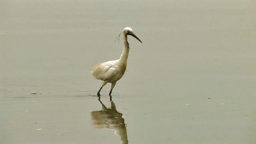
M 114 89 L 116 82 L 123 77 L 126 70 L 127 59 L 130 49 L 127 36 L 131 35 L 141 42 L 141 40 L 133 33 L 132 29 L 129 27 L 124 28 L 124 30 L 117 36 L 117 38 L 120 38 L 121 34 L 123 34 L 124 49 L 123 53 L 120 56 L 120 59 L 99 63 L 93 68 L 93 71 L 91 71 L 91 75 L 93 75 L 96 79 L 102 80 L 102 85 L 97 92 L 97 96 L 100 96 L 100 91 L 102 87 L 107 83 L 111 83 L 111 89 L 109 92 L 109 96 L 111 96 L 112 90 Z

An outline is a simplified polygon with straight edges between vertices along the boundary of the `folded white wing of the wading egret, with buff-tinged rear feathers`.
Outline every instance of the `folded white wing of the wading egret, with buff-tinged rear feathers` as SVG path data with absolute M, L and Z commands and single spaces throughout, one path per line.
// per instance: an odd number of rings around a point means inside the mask
M 103 81 L 111 79 L 119 71 L 115 63 L 116 61 L 100 63 L 94 68 L 91 74 L 94 75 L 96 79 L 100 79 Z

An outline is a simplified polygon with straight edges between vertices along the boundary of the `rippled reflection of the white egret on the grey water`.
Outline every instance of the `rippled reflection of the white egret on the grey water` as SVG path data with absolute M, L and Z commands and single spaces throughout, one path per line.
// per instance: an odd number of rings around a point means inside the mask
M 101 102 L 100 97 L 98 100 L 101 103 L 102 109 L 101 111 L 91 112 L 93 125 L 99 129 L 109 128 L 115 130 L 115 134 L 120 136 L 123 144 L 128 144 L 125 119 L 122 118 L 123 114 L 116 110 L 116 106 L 112 101 L 112 97 L 110 96 L 110 108 L 106 108 L 106 106 Z

